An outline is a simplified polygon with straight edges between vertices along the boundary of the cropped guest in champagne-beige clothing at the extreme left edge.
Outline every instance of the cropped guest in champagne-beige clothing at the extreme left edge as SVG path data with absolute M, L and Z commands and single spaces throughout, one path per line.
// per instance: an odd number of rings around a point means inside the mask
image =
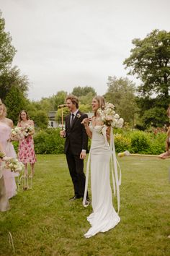
M 4 149 L 2 148 L 1 143 L 0 143 L 0 153 L 5 155 Z M 0 211 L 1 212 L 4 212 L 10 209 L 9 200 L 6 195 L 6 189 L 4 184 L 3 168 L 4 168 L 3 155 L 0 155 Z

